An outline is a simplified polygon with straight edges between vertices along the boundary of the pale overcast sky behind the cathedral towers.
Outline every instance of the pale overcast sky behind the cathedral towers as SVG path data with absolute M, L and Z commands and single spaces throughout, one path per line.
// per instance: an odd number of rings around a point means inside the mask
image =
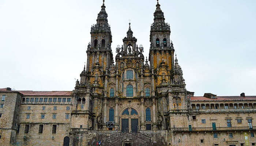
M 159 0 L 188 91 L 256 95 L 256 0 Z M 102 0 L 0 0 L 0 88 L 71 91 Z M 129 19 L 149 53 L 156 0 L 106 0 L 112 50 Z

